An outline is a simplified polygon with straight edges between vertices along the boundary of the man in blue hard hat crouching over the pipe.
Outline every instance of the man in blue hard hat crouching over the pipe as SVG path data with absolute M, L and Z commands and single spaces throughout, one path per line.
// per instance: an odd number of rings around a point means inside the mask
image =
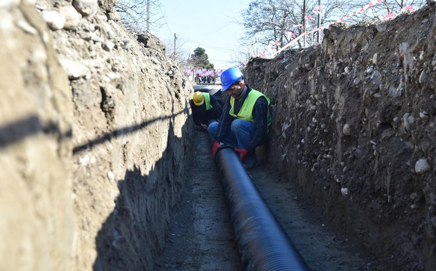
M 218 123 L 207 128 L 211 137 L 212 157 L 221 145 L 230 145 L 245 161 L 246 168 L 256 164 L 255 148 L 264 144 L 271 126 L 270 100 L 250 88 L 239 69 L 230 67 L 221 74 L 221 91 L 228 96 Z

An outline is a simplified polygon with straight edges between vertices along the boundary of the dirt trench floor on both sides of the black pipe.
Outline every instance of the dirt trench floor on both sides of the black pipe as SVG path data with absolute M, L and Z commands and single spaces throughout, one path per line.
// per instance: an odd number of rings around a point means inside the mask
M 207 132 L 196 130 L 195 137 L 193 167 L 155 270 L 241 270 Z M 294 180 L 266 162 L 248 172 L 311 270 L 386 270 L 358 240 L 335 232 Z

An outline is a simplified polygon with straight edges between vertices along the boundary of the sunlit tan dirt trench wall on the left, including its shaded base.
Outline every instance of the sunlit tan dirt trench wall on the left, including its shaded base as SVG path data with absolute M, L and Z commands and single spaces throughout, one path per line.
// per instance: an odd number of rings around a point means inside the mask
M 0 4 L 0 269 L 151 269 L 183 191 L 191 86 L 114 1 Z

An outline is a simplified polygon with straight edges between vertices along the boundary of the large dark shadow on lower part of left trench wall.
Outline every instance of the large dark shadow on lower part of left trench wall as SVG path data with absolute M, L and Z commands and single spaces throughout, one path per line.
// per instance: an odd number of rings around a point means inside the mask
M 149 122 L 150 123 L 150 122 Z M 142 125 L 141 125 L 142 126 Z M 192 131 L 188 121 L 184 135 Z M 97 258 L 93 270 L 151 270 L 154 256 L 165 244 L 165 229 L 171 209 L 179 199 L 187 178 L 186 162 L 177 152 L 190 156 L 187 139 L 174 136 L 170 122 L 167 148 L 152 170 L 144 175 L 135 165 L 118 180 L 120 194 L 115 208 L 95 239 Z

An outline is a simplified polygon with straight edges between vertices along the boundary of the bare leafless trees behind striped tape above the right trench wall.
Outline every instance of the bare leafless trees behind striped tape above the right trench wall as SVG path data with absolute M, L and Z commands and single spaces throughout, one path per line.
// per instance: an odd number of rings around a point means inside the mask
M 243 26 L 246 29 L 244 48 L 253 55 L 266 47 L 279 50 L 290 40 L 303 34 L 305 30 L 306 33 L 311 30 L 316 31 L 318 29 L 316 16 L 321 16 L 322 26 L 344 17 L 347 18 L 346 22 L 355 23 L 381 19 L 392 12 L 401 13 L 407 5 L 420 8 L 425 0 L 383 0 L 382 3 L 363 11 L 361 11 L 362 7 L 368 5 L 370 0 L 324 0 L 321 1 L 321 5 L 319 2 L 318 0 L 253 0 L 242 14 Z M 315 42 L 313 36 L 307 38 L 310 44 Z M 303 47 L 301 40 L 294 46 Z

